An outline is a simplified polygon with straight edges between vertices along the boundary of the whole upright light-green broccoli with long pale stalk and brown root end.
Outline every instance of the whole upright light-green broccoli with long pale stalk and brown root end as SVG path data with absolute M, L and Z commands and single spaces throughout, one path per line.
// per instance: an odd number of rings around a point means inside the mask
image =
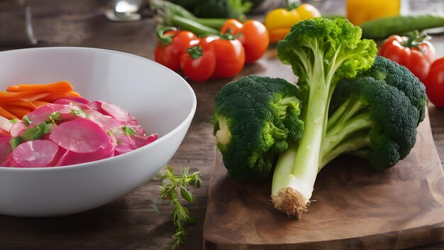
M 279 156 L 272 181 L 274 207 L 289 215 L 306 210 L 323 163 L 328 109 L 338 81 L 368 70 L 374 61 L 373 40 L 346 19 L 315 18 L 292 27 L 277 45 L 277 55 L 299 76 L 304 133 Z

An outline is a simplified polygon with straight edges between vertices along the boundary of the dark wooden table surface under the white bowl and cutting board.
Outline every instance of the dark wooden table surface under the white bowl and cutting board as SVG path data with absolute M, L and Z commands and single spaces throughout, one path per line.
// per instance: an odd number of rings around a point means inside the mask
M 106 48 L 153 59 L 157 42 L 155 20 L 148 15 L 140 21 L 111 22 L 104 16 L 106 4 L 106 0 L 30 1 L 37 46 Z M 322 13 L 345 13 L 345 4 L 341 0 L 313 4 Z M 432 43 L 437 55 L 444 56 L 444 34 L 433 35 Z M 26 45 L 14 48 L 23 47 Z M 9 49 L 13 48 L 0 48 Z M 187 228 L 189 235 L 180 249 L 202 249 L 202 227 L 215 149 L 210 123 L 213 97 L 227 82 L 250 73 L 283 77 L 293 82 L 296 79 L 289 66 L 277 60 L 276 50 L 271 46 L 260 60 L 246 65 L 233 79 L 189 82 L 196 92 L 196 115 L 170 164 L 176 169 L 189 165 L 192 170 L 200 170 L 203 182 L 200 189 L 192 189 L 194 203 L 188 205 L 191 216 L 198 219 L 198 223 Z M 433 138 L 440 158 L 444 159 L 444 109 L 429 105 L 429 112 Z M 67 217 L 26 219 L 0 216 L 0 249 L 170 249 L 170 236 L 175 230 L 172 207 L 168 201 L 157 200 L 160 214 L 154 211 L 153 200 L 160 194 L 158 185 L 158 180 L 147 180 L 145 185 L 126 197 Z M 418 249 L 444 249 L 444 242 Z

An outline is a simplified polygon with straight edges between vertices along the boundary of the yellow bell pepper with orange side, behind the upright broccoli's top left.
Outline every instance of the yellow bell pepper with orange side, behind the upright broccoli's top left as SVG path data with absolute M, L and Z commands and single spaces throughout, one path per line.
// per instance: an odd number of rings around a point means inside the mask
M 301 4 L 296 9 L 274 9 L 265 16 L 265 27 L 270 36 L 270 43 L 277 43 L 290 32 L 294 23 L 321 16 L 321 13 L 311 4 Z

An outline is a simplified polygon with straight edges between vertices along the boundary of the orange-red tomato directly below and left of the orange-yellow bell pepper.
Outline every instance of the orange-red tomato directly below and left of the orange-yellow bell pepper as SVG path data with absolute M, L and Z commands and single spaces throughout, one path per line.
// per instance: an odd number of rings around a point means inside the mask
M 264 55 L 270 44 L 267 28 L 256 20 L 249 20 L 240 23 L 236 19 L 228 19 L 222 28 L 221 33 L 231 33 L 236 36 L 245 49 L 245 62 L 254 62 Z

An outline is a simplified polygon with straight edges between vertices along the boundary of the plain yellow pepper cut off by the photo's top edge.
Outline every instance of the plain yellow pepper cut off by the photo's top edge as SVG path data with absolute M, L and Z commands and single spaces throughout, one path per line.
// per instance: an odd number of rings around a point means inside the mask
M 400 0 L 347 0 L 347 18 L 360 25 L 377 18 L 398 16 Z

